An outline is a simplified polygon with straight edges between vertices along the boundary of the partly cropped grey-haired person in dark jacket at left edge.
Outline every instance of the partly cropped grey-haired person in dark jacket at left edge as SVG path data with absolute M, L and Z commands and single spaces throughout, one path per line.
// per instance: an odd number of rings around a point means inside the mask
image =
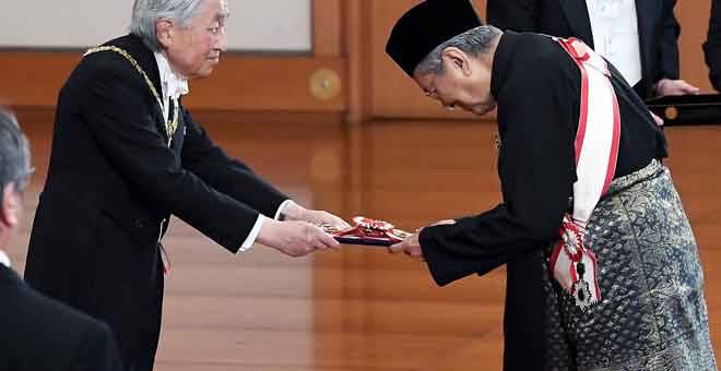
M 27 140 L 0 108 L 0 370 L 120 371 L 110 328 L 33 290 L 2 251 L 19 232 L 31 172 Z

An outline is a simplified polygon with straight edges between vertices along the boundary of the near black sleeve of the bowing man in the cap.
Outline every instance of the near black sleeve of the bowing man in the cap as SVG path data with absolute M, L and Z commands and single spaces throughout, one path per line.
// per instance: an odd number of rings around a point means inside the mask
M 572 112 L 579 105 L 564 79 L 536 70 L 507 84 L 498 101 L 504 202 L 422 230 L 421 247 L 438 285 L 485 274 L 557 238 L 576 180 Z

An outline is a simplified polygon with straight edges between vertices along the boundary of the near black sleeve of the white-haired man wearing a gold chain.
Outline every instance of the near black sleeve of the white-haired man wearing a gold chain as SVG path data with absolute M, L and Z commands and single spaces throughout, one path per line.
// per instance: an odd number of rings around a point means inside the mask
M 144 82 L 115 58 L 91 71 L 83 86 L 80 105 L 91 134 L 137 192 L 236 252 L 259 213 L 181 167 L 154 121 Z

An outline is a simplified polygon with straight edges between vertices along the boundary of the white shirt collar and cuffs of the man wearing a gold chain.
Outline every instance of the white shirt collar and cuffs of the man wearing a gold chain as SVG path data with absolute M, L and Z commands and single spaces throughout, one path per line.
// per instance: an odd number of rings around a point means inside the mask
M 165 121 L 167 121 L 168 117 L 170 116 L 170 99 L 178 99 L 181 95 L 188 94 L 190 89 L 188 88 L 188 80 L 173 71 L 170 63 L 163 53 L 155 52 L 155 61 L 157 62 L 157 71 L 161 74 L 161 87 L 163 88 L 163 117 L 165 118 Z M 281 216 L 281 212 L 291 202 L 291 200 L 285 200 L 281 206 L 277 207 L 274 216 L 276 220 Z M 258 239 L 260 228 L 263 226 L 263 219 L 264 216 L 259 214 L 258 218 L 256 219 L 256 224 L 250 230 L 248 237 L 246 237 L 246 240 L 243 241 L 238 252 L 248 251 L 252 247 L 252 244 L 256 242 L 256 239 Z

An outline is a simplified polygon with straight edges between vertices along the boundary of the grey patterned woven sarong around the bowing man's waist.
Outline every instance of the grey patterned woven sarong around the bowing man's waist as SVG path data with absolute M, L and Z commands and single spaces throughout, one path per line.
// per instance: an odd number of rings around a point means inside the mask
M 546 266 L 546 370 L 717 370 L 698 249 L 665 167 L 614 180 L 587 241 L 603 297 L 579 309 Z

